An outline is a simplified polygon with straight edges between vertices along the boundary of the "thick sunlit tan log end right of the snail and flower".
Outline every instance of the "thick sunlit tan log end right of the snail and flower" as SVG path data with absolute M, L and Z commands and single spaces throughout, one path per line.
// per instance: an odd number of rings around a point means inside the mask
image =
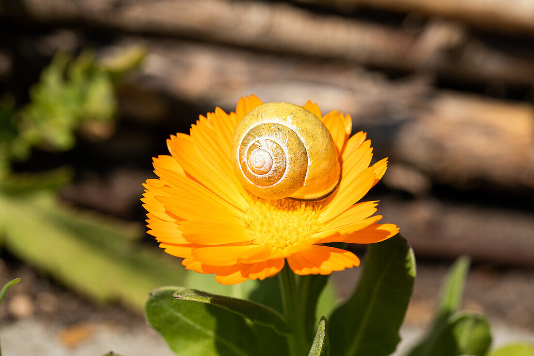
M 399 129 L 392 153 L 435 182 L 532 190 L 534 108 L 439 92 Z

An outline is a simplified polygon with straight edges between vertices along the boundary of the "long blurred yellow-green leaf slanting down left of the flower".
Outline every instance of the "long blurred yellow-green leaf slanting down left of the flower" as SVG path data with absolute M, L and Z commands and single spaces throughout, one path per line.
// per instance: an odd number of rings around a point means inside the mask
M 154 288 L 184 282 L 176 259 L 137 246 L 139 230 L 67 210 L 54 196 L 0 192 L 0 241 L 7 250 L 83 295 L 137 310 Z

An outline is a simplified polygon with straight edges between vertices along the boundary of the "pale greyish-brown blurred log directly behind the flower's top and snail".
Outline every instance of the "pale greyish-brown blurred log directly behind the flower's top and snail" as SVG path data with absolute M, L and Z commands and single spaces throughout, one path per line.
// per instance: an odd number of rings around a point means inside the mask
M 137 43 L 124 41 L 127 46 Z M 180 101 L 233 110 L 240 96 L 304 104 L 315 100 L 325 113 L 341 110 L 361 122 L 373 122 L 384 110 L 405 111 L 427 90 L 424 82 L 395 84 L 383 75 L 337 61 L 260 55 L 182 41 L 151 41 L 142 72 L 129 85 L 163 92 Z M 142 89 L 140 89 L 142 90 Z M 128 97 L 124 98 L 128 100 Z M 129 113 L 143 112 L 141 99 L 129 100 Z M 160 105 L 161 106 L 161 105 Z M 189 120 L 194 121 L 196 117 Z

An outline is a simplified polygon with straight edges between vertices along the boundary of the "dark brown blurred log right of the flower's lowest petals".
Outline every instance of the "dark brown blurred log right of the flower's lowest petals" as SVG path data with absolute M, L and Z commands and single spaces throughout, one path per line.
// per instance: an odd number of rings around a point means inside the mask
M 387 174 L 387 173 L 386 173 Z M 382 221 L 395 222 L 416 256 L 534 267 L 534 215 L 436 199 L 380 201 Z

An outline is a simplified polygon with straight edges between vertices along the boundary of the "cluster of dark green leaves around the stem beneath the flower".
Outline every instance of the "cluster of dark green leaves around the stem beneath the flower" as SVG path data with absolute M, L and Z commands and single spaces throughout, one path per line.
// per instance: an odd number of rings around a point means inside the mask
M 414 277 L 413 252 L 402 237 L 370 245 L 352 297 L 322 315 L 315 337 L 306 335 L 310 354 L 326 354 L 328 344 L 332 355 L 390 354 L 400 340 L 398 329 Z M 271 284 L 276 281 L 270 279 Z M 319 279 L 323 281 L 314 281 Z M 295 326 L 288 323 L 287 308 L 280 309 L 276 289 L 265 282 L 256 282 L 255 289 L 241 300 L 179 287 L 158 289 L 146 302 L 146 319 L 171 349 L 183 356 L 284 355 Z M 305 298 L 310 293 L 308 285 L 316 285 L 312 291 L 321 295 L 325 282 L 325 276 L 311 275 L 299 277 L 295 283 L 293 308 L 307 314 L 311 325 L 317 325 L 312 320 L 320 298 Z M 265 305 L 258 304 L 262 295 L 270 296 L 263 298 Z

